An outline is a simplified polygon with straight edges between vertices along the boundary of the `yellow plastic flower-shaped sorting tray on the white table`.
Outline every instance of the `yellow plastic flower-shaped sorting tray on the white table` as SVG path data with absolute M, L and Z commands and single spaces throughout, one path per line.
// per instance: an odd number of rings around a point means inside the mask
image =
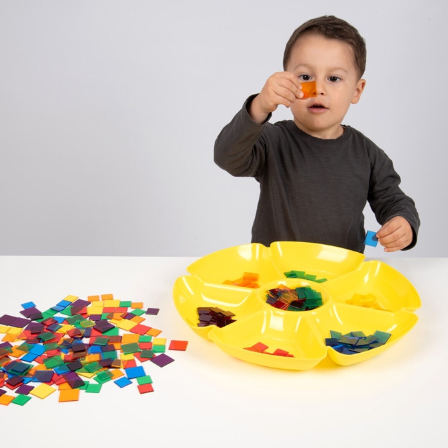
M 327 354 L 340 365 L 365 361 L 395 344 L 417 322 L 414 310 L 421 305 L 413 285 L 398 271 L 379 261 L 364 261 L 363 254 L 339 247 L 304 242 L 275 242 L 270 247 L 247 244 L 209 254 L 192 263 L 191 275 L 179 277 L 173 297 L 177 311 L 199 336 L 215 342 L 224 352 L 262 366 L 306 370 Z M 288 278 L 297 270 L 315 280 Z M 258 288 L 224 284 L 244 272 L 259 275 Z M 322 296 L 323 305 L 308 311 L 274 308 L 266 293 L 286 285 L 310 286 Z M 359 297 L 374 298 L 375 308 L 361 306 Z M 198 307 L 230 311 L 236 322 L 224 327 L 198 327 Z M 342 354 L 325 343 L 330 330 L 346 334 L 375 331 L 392 336 L 375 349 Z M 289 357 L 259 353 L 247 348 L 261 342 L 288 352 Z

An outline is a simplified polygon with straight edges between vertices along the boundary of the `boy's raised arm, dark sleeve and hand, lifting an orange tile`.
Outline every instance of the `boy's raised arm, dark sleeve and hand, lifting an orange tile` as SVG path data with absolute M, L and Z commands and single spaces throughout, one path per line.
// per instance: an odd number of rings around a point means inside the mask
M 268 150 L 262 135 L 264 124 L 279 104 L 289 107 L 302 96 L 293 73 L 274 73 L 216 138 L 215 163 L 233 176 L 256 176 Z

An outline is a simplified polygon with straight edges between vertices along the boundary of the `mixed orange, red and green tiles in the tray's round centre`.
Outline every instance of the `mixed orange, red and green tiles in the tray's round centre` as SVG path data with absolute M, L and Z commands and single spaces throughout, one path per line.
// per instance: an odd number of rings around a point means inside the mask
M 279 310 L 308 311 L 322 306 L 322 294 L 310 286 L 281 285 L 267 291 L 266 302 Z

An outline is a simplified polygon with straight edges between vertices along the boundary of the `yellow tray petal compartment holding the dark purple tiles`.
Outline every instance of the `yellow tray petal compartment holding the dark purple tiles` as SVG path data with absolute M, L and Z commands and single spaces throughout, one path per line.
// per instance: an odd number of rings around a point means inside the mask
M 195 276 L 179 277 L 173 289 L 174 304 L 182 319 L 199 336 L 207 338 L 214 327 L 198 327 L 198 307 L 218 307 L 235 314 L 233 319 L 242 319 L 261 309 L 255 289 L 238 286 L 204 283 Z M 235 325 L 231 323 L 229 326 Z

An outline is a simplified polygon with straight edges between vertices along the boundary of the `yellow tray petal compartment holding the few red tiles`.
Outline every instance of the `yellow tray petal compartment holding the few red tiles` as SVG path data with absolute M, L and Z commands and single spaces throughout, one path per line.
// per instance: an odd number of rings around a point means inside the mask
M 305 316 L 291 311 L 265 309 L 227 327 L 214 328 L 209 337 L 220 349 L 235 358 L 280 369 L 310 369 L 327 354 L 316 328 Z M 246 349 L 258 342 L 268 346 L 267 352 L 281 349 L 293 357 Z

